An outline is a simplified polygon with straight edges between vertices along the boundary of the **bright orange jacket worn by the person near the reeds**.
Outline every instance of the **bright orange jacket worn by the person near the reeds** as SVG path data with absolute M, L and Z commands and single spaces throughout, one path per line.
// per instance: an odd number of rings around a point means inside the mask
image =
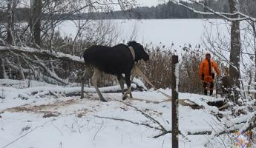
M 215 61 L 210 60 L 211 63 L 211 71 L 209 71 L 209 62 L 208 60 L 205 58 L 203 59 L 203 61 L 200 63 L 199 66 L 199 76 L 200 78 L 202 78 L 203 76 L 203 82 L 214 82 L 211 73 L 213 73 L 212 67 L 214 67 L 214 70 L 216 71 L 217 75 L 220 75 L 220 70 L 217 67 L 217 64 L 215 63 Z

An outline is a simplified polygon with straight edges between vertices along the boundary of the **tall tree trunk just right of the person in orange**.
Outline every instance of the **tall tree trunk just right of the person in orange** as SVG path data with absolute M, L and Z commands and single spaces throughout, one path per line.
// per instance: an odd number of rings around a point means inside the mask
M 230 13 L 236 13 L 236 0 L 229 0 Z M 238 18 L 238 15 L 234 15 L 234 19 Z M 230 84 L 233 88 L 240 88 L 240 21 L 232 21 L 231 27 L 231 44 L 230 44 L 230 63 L 229 65 L 229 77 Z M 237 100 L 239 94 L 234 92 L 234 98 Z

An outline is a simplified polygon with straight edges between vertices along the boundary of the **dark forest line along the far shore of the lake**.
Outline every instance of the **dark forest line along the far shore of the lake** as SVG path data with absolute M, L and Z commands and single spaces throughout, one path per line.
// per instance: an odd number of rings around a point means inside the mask
M 189 3 L 187 1 L 180 1 L 181 3 L 192 7 L 195 10 L 206 11 L 198 4 Z M 228 0 L 203 0 L 200 1 L 203 4 L 211 7 L 217 12 L 228 13 L 229 12 L 229 3 Z M 30 17 L 30 8 L 22 7 L 16 9 L 16 20 L 17 21 L 28 21 Z M 49 13 L 43 13 L 42 19 L 47 19 Z M 66 13 L 57 13 L 54 14 L 54 19 L 63 19 L 63 16 L 66 16 Z M 7 11 L 0 10 L 1 21 L 7 20 Z M 65 19 L 211 19 L 211 18 L 220 18 L 215 15 L 202 15 L 199 13 L 194 13 L 191 10 L 188 10 L 186 7 L 175 4 L 173 1 L 168 1 L 168 3 L 158 4 L 157 6 L 152 7 L 135 7 L 129 10 L 107 10 L 107 12 L 91 12 L 91 13 L 82 13 L 82 14 L 72 14 Z

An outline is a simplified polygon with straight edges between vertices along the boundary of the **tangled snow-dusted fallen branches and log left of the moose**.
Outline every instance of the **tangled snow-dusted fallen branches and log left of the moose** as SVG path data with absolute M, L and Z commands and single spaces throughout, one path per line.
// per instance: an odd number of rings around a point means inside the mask
M 78 82 L 84 61 L 76 55 L 30 47 L 0 47 L 1 75 L 5 78 L 42 80 L 50 84 Z

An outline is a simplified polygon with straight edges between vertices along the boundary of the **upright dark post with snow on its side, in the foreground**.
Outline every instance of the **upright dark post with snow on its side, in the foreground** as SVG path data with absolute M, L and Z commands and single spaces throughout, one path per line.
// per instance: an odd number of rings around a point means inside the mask
M 179 147 L 179 116 L 178 116 L 178 84 L 179 64 L 178 55 L 171 57 L 171 125 L 172 125 L 172 148 Z

